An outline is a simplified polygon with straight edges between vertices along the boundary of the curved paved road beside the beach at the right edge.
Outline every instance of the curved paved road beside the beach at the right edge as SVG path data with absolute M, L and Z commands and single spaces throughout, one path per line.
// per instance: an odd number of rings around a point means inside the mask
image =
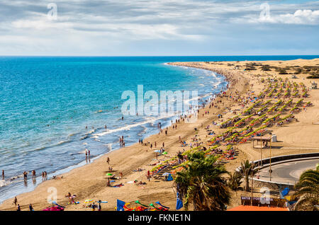
M 303 171 L 314 169 L 319 159 L 293 161 L 272 166 L 272 181 L 295 184 Z M 259 178 L 269 180 L 269 167 L 259 171 Z

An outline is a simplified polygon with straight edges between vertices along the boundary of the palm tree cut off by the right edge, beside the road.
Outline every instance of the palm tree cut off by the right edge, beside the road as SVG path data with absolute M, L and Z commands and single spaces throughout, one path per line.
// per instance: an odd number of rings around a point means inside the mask
M 315 170 L 303 172 L 295 188 L 295 196 L 299 199 L 294 210 L 318 210 L 315 206 L 319 204 L 319 166 Z

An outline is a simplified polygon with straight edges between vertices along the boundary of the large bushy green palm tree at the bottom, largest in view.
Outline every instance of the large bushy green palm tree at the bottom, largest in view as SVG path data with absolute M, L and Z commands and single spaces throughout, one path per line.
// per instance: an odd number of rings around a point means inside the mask
M 174 180 L 185 209 L 188 210 L 191 203 L 194 210 L 225 210 L 226 204 L 230 203 L 230 192 L 222 177 L 227 171 L 218 165 L 218 158 L 206 157 L 202 151 L 189 154 L 188 158 L 184 170 L 177 172 Z

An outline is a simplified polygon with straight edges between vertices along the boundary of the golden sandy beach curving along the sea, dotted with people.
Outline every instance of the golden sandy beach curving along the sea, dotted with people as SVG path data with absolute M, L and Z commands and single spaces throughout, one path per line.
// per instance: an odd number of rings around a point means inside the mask
M 222 74 L 229 82 L 225 96 L 236 95 L 245 98 L 250 96 L 252 92 L 254 95 L 259 95 L 259 93 L 262 93 L 269 84 L 267 83 L 267 78 L 287 78 L 291 82 L 303 82 L 306 88 L 310 87 L 310 82 L 315 81 L 315 79 L 306 79 L 308 74 L 297 74 L 296 78 L 293 79 L 291 78 L 291 74 L 279 74 L 279 71 L 275 71 L 274 69 L 271 71 L 262 71 L 261 66 L 255 66 L 255 70 L 244 71 L 247 67 L 247 63 L 267 64 L 271 67 L 293 68 L 293 66 L 318 66 L 319 59 L 265 62 L 175 62 L 171 64 L 175 66 L 208 69 L 215 71 L 218 74 Z M 262 81 L 262 79 L 266 81 Z M 282 126 L 268 128 L 272 130 L 272 134 L 276 134 L 276 137 L 279 140 L 279 142 L 274 143 L 275 148 L 272 149 L 272 156 L 319 151 L 319 138 L 317 135 L 319 134 L 319 91 L 318 89 L 309 89 L 308 95 L 309 96 L 304 102 L 310 101 L 313 105 L 307 107 L 306 110 L 301 110 L 300 113 L 294 113 L 293 115 L 297 120 L 293 120 Z M 296 102 L 296 99 L 293 100 L 294 103 Z M 218 103 L 218 100 L 222 100 L 222 102 Z M 203 142 L 203 146 L 207 146 L 206 141 L 210 139 L 210 137 L 207 136 L 204 127 L 212 125 L 212 121 L 220 123 L 221 120 L 218 118 L 218 115 L 223 115 L 223 120 L 225 121 L 228 120 L 228 118 L 234 117 L 233 112 L 240 113 L 240 111 L 252 105 L 252 103 L 247 103 L 245 107 L 242 108 L 242 105 L 229 97 L 218 97 L 213 100 L 213 103 L 217 108 L 208 108 L 208 105 L 206 108 L 201 108 L 196 122 L 186 123 L 181 121 L 177 124 L 177 129 L 173 129 L 172 125 L 168 127 L 167 135 L 163 132 L 144 139 L 144 143 L 152 143 L 152 149 L 150 149 L 149 144 L 140 145 L 137 143 L 116 151 L 111 151 L 96 159 L 93 163 L 75 168 L 69 173 L 59 175 L 56 179 L 40 183 L 40 185 L 32 192 L 18 195 L 17 199 L 18 204 L 21 206 L 21 210 L 28 210 L 29 204 L 33 204 L 35 210 L 42 210 L 45 209 L 45 207 L 50 206 L 50 203 L 47 202 L 47 199 L 52 197 L 52 192 L 50 192 L 50 190 L 57 191 L 57 202 L 61 205 L 67 205 L 65 210 L 89 210 L 84 207 L 84 201 L 86 199 L 107 201 L 108 203 L 102 204 L 102 210 L 116 210 L 116 200 L 130 202 L 131 205 L 134 205 L 136 200 L 139 200 L 144 204 L 159 201 L 174 210 L 176 204 L 176 190 L 172 187 L 172 182 L 165 182 L 153 178 L 149 181 L 146 176 L 147 171 L 154 168 L 153 165 L 158 161 L 165 161 L 176 156 L 177 153 L 183 151 L 183 149 L 190 149 L 189 146 L 181 146 L 179 137 L 187 143 L 190 143 L 192 137 L 197 134 L 199 139 L 201 139 L 201 142 Z M 207 110 L 209 110 L 209 114 L 205 113 Z M 173 123 L 173 125 L 175 125 L 175 123 Z M 195 132 L 194 128 L 198 129 L 198 132 Z M 221 134 L 226 130 L 220 129 L 220 127 L 215 125 L 211 128 L 216 134 Z M 157 147 L 155 147 L 155 142 L 157 143 Z M 158 156 L 156 159 L 154 150 L 159 149 L 163 142 L 164 149 L 168 154 Z M 240 162 L 244 159 L 253 161 L 260 158 L 260 151 L 259 149 L 254 149 L 252 147 L 252 142 L 236 144 L 235 147 L 239 151 L 239 154 L 233 160 L 225 163 L 225 168 L 228 171 L 234 171 L 237 166 L 240 166 Z M 269 154 L 270 152 L 268 149 L 265 149 L 262 152 L 263 158 L 268 157 Z M 106 162 L 107 158 L 110 158 L 109 164 Z M 109 166 L 113 168 L 111 173 L 116 176 L 118 176 L 120 172 L 123 173 L 123 178 L 111 183 L 111 185 L 122 183 L 123 186 L 120 188 L 106 186 L 106 183 L 108 182 L 106 173 L 108 173 Z M 138 168 L 142 168 L 142 171 L 133 171 Z M 131 183 L 131 181 L 134 180 L 138 180 L 138 182 L 142 181 L 142 183 L 146 184 L 137 185 Z M 68 192 L 77 195 L 77 201 L 80 203 L 67 204 L 69 201 L 65 195 L 67 195 Z M 233 202 L 230 207 L 235 207 L 239 204 L 237 195 L 240 196 L 240 194 L 234 194 Z M 16 210 L 16 207 L 12 202 L 13 199 L 6 200 L 0 205 L 0 210 Z

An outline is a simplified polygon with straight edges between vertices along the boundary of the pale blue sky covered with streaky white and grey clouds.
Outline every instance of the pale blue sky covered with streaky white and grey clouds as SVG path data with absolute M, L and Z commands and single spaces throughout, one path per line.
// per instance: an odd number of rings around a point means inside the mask
M 0 55 L 319 54 L 319 1 L 0 0 Z

